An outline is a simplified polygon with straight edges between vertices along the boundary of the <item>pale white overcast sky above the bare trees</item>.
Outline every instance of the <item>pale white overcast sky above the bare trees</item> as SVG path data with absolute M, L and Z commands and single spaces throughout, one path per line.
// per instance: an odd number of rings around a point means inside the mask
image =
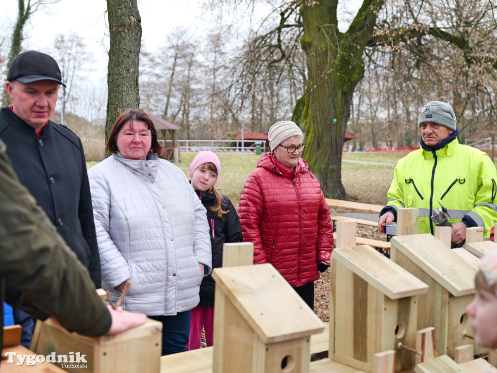
M 339 9 L 343 6 L 354 6 L 361 0 L 340 1 Z M 262 2 L 261 2 L 262 3 Z M 17 0 L 0 0 L 0 22 L 5 26 L 13 23 L 17 17 Z M 351 5 L 352 4 L 352 5 Z M 358 8 L 358 5 L 356 5 Z M 93 54 L 93 72 L 91 79 L 106 83 L 108 38 L 105 34 L 107 16 L 105 0 L 60 0 L 58 3 L 44 6 L 35 12 L 24 28 L 23 50 L 38 50 L 49 52 L 55 36 L 76 32 L 84 37 L 88 51 Z M 202 8 L 201 0 L 138 0 L 138 8 L 142 17 L 142 50 L 155 51 L 166 44 L 167 34 L 178 26 L 190 28 L 199 35 L 212 29 L 212 12 Z M 259 6 L 259 18 L 267 15 L 267 6 Z M 225 13 L 225 16 L 227 13 Z M 340 17 L 343 19 L 344 17 Z M 254 20 L 257 22 L 257 19 Z M 248 18 L 241 23 L 249 26 Z M 241 24 L 240 28 L 244 25 Z M 11 33 L 11 28 L 2 29 Z M 345 29 L 346 24 L 341 24 Z

